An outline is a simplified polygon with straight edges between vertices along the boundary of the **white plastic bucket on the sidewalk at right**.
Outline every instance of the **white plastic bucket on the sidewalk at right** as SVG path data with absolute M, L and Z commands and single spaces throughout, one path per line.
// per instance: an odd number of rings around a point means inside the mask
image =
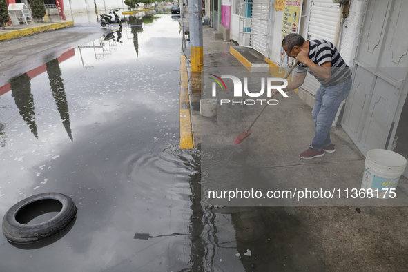
M 405 171 L 405 166 L 407 166 L 407 159 L 394 151 L 369 150 L 365 157 L 365 171 L 362 175 L 361 188 L 365 189 L 366 192 L 367 189 L 371 188 L 374 197 L 377 195 L 378 198 L 394 197 L 395 189 Z M 390 191 L 389 189 L 394 190 Z

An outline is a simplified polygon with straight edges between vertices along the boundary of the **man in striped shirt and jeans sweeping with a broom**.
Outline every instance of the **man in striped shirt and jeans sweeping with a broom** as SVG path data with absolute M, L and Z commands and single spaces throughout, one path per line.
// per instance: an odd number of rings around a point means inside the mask
M 351 70 L 344 62 L 337 48 L 322 39 L 305 41 L 301 35 L 291 33 L 284 37 L 282 47 L 289 57 L 299 61 L 295 79 L 283 88 L 285 92 L 301 86 L 310 72 L 320 82 L 315 95 L 312 116 L 315 122 L 315 136 L 311 146 L 299 154 L 302 159 L 322 157 L 324 153 L 336 151 L 330 140 L 330 127 L 341 102 L 350 93 Z M 274 90 L 273 94 L 277 94 Z

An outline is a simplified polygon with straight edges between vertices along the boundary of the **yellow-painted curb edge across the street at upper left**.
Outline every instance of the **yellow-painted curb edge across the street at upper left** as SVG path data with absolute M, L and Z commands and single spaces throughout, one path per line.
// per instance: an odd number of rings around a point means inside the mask
M 0 28 L 0 41 L 28 36 L 48 30 L 69 28 L 72 26 L 74 26 L 73 21 L 50 21 L 46 23 L 24 23 L 19 26 L 6 26 L 6 29 Z

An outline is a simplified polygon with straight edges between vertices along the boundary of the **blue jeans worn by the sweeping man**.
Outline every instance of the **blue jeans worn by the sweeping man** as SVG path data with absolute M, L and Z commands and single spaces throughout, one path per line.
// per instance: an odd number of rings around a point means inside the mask
M 352 84 L 353 80 L 350 79 L 329 87 L 321 85 L 318 89 L 312 111 L 313 121 L 315 122 L 315 137 L 311 148 L 321 151 L 324 146 L 331 144 L 331 124 L 333 124 L 341 102 L 349 95 Z

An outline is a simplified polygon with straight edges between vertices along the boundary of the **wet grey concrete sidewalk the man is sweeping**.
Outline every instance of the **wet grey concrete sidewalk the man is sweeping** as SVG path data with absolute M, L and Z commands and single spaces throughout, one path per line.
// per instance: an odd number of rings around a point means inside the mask
M 273 77 L 271 74 L 284 77 L 285 72 L 284 69 L 271 68 L 269 72 L 251 73 L 242 61 L 231 54 L 233 45 L 229 41 L 214 39 L 214 33 L 213 28 L 203 26 L 201 92 L 191 83 L 197 75 L 192 76 L 188 68 L 182 69 L 182 74 L 188 73 L 194 146 L 202 150 L 202 184 L 207 189 L 213 181 L 216 188 L 229 188 L 226 185 L 230 183 L 242 190 L 278 190 L 313 185 L 324 189 L 340 188 L 342 193 L 346 188 L 360 189 L 365 157 L 341 127 L 331 128 L 335 153 L 316 159 L 298 157 L 311 144 L 314 124 L 312 108 L 294 92 L 289 92 L 288 98 L 279 95 L 277 106 L 266 107 L 253 126 L 252 135 L 240 145 L 234 145 L 234 139 L 251 124 L 261 106 L 240 104 L 239 101 L 220 105 L 220 99 L 231 100 L 231 79 L 224 79 L 228 91 L 220 90 L 220 86 L 216 85 L 217 116 L 200 116 L 200 99 L 213 98 L 212 84 L 215 81 L 209 78 L 210 74 L 219 77 L 234 75 L 240 79 L 247 77 L 249 89 L 255 93 L 260 90 L 262 77 Z M 238 49 L 241 52 L 246 50 L 243 55 L 256 55 L 250 49 Z M 266 99 L 266 95 L 262 99 Z M 401 177 L 396 194 L 398 200 L 383 202 L 353 199 L 351 195 L 346 199 L 343 195 L 338 202 L 325 203 L 323 200 L 296 204 L 288 200 L 272 203 L 285 206 L 285 211 L 298 218 L 312 233 L 304 242 L 318 249 L 313 256 L 318 256 L 324 264 L 324 269 L 319 271 L 408 271 L 405 258 L 408 250 L 405 234 L 408 227 L 408 182 L 405 177 Z M 202 199 L 213 203 L 208 200 L 206 189 L 202 190 Z M 220 210 L 240 211 L 242 203 L 251 206 L 244 201 L 235 204 L 225 202 L 226 207 Z M 261 201 L 253 205 L 270 204 Z M 297 234 L 288 230 L 288 235 Z M 269 269 L 273 270 L 272 267 Z M 313 271 L 313 267 L 310 269 Z

